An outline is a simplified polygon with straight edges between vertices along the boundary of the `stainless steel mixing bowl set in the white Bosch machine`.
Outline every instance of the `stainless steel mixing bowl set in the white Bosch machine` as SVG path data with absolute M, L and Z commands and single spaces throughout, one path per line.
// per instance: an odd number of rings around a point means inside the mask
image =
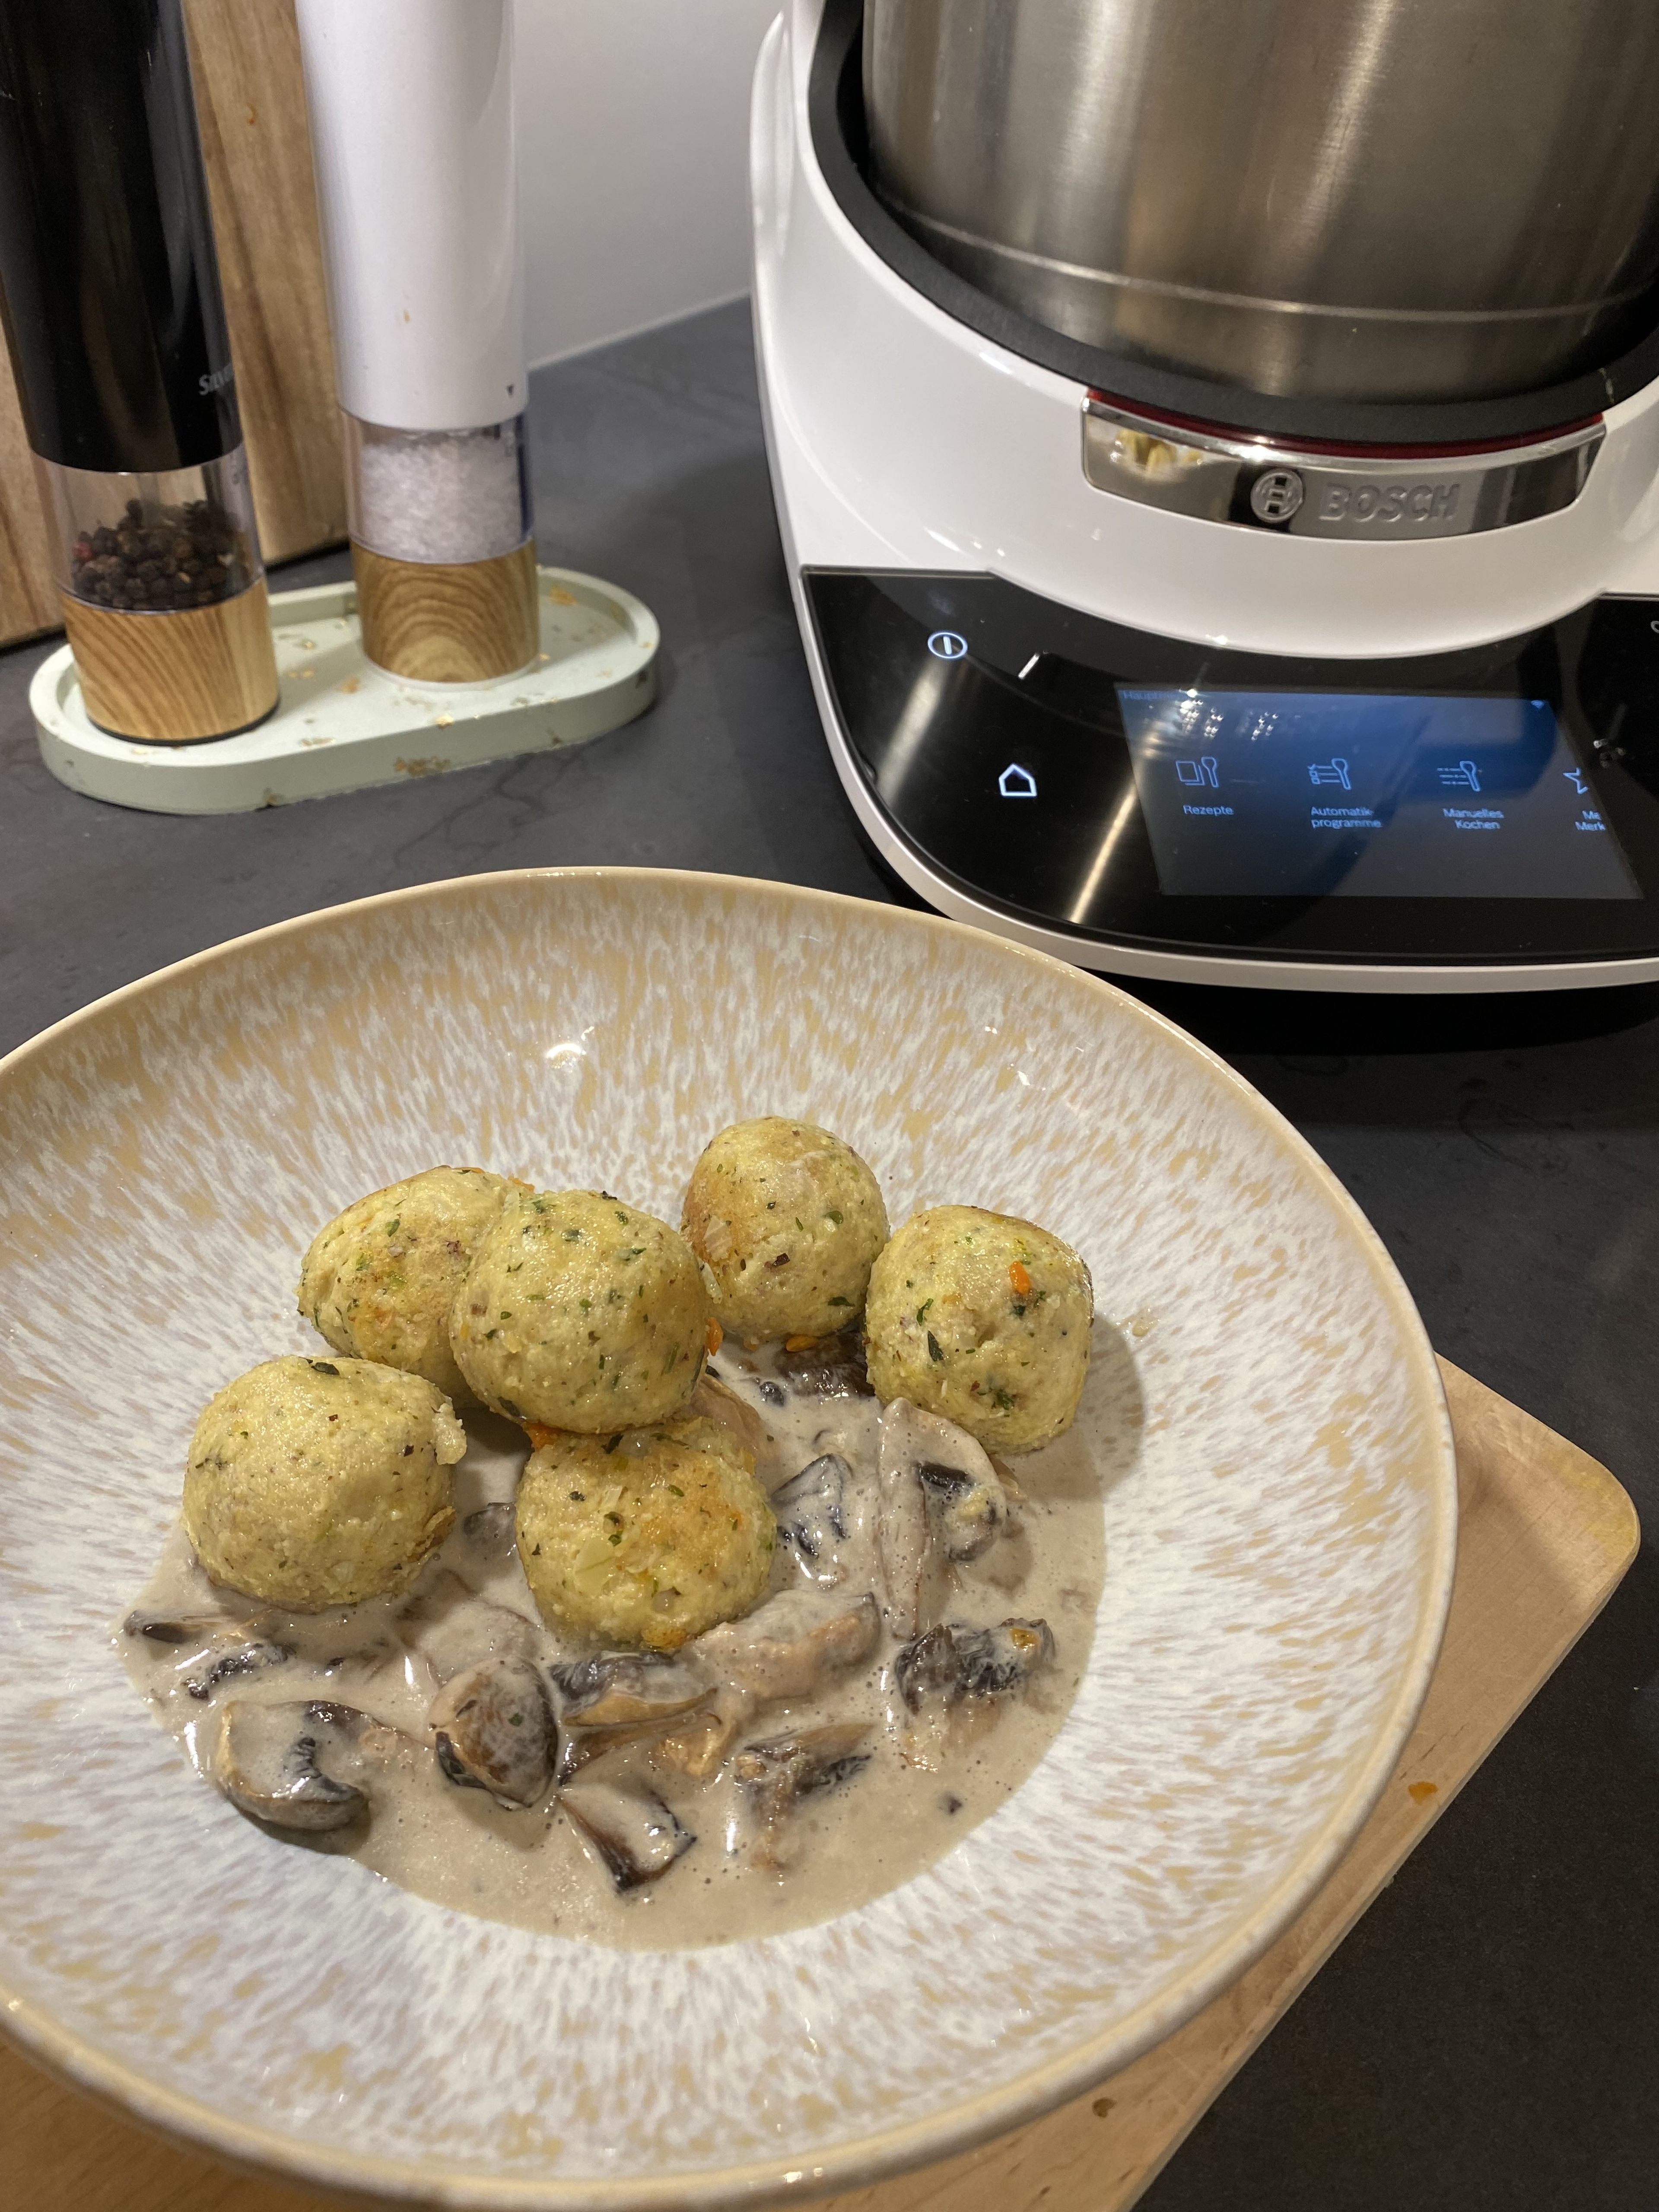
M 874 181 L 1051 330 L 1290 398 L 1526 392 L 1655 321 L 1655 0 L 869 0 Z

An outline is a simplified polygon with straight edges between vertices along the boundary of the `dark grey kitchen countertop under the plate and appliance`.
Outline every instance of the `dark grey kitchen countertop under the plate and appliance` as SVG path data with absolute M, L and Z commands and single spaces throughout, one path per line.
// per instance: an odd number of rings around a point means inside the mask
M 42 768 L 0 655 L 0 1051 L 263 922 L 608 860 L 891 896 L 818 732 L 748 312 L 535 376 L 542 553 L 637 591 L 664 695 L 586 752 L 261 814 L 131 814 Z M 345 573 L 299 564 L 276 586 Z M 1146 993 L 1152 995 L 1152 993 Z M 1157 993 L 1318 1146 L 1436 1345 L 1659 1526 L 1659 993 Z M 1659 1573 L 1604 1617 L 1197 2128 L 1150 2212 L 1626 2212 L 1659 2194 Z

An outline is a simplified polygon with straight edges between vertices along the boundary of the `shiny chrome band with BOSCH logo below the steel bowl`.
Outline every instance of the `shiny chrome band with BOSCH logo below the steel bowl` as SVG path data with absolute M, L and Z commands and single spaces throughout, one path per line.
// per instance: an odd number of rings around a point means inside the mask
M 1084 476 L 1095 491 L 1201 522 L 1400 544 L 1559 513 L 1584 491 L 1604 438 L 1597 420 L 1500 453 L 1307 453 L 1243 434 L 1175 429 L 1091 398 Z

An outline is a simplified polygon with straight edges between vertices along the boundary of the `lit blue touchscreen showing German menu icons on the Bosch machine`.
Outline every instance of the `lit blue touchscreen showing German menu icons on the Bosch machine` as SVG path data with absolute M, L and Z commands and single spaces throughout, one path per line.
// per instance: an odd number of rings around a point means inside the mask
M 1177 898 L 1641 896 L 1544 699 L 1117 699 Z

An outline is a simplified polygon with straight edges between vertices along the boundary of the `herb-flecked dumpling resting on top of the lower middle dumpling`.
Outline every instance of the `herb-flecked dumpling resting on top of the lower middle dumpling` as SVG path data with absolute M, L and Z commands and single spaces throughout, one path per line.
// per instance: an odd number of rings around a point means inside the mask
M 666 1221 L 602 1190 L 513 1192 L 456 1294 L 469 1387 L 511 1420 L 615 1436 L 697 1387 L 710 1303 Z

